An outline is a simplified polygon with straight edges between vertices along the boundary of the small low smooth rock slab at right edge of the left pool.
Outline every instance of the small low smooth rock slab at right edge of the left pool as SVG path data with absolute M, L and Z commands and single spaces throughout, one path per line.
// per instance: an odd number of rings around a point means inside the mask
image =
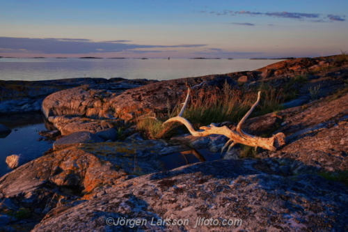
M 55 141 L 53 144 L 53 149 L 61 150 L 70 146 L 77 146 L 79 144 L 93 144 L 103 141 L 104 139 L 90 132 L 74 132 Z

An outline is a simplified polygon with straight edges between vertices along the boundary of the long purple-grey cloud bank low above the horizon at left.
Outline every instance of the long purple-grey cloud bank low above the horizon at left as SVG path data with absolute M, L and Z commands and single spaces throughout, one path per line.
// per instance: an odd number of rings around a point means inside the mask
M 116 41 L 116 40 L 115 40 Z M 13 49 L 14 52 L 25 49 L 26 52 L 37 54 L 88 54 L 99 52 L 129 52 L 136 49 L 151 49 L 163 47 L 204 47 L 206 45 L 137 45 L 123 42 L 93 42 L 85 39 L 61 38 L 13 38 L 0 37 L 3 49 Z M 118 40 L 119 41 L 119 40 Z M 128 41 L 128 40 L 122 40 Z M 11 50 L 7 50 L 11 51 Z

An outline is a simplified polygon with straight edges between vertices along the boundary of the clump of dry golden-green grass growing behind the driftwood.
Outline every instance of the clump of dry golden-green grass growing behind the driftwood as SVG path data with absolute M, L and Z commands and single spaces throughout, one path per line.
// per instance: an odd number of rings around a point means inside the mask
M 196 130 L 200 126 L 209 125 L 210 123 L 222 123 L 224 121 L 237 123 L 255 103 L 258 98 L 258 91 L 262 91 L 262 100 L 252 116 L 260 116 L 281 109 L 280 104 L 284 100 L 281 94 L 282 90 L 276 91 L 267 86 L 261 86 L 259 89 L 242 90 L 232 88 L 226 83 L 222 89 L 212 87 L 191 91 L 190 102 L 183 116 L 192 123 Z M 186 93 L 182 95 L 180 102 L 183 102 L 185 97 Z M 168 118 L 176 116 L 181 107 L 181 104 L 177 104 L 173 112 L 166 116 L 157 116 L 156 119 L 154 117 L 139 119 L 138 130 L 143 131 L 151 139 L 163 137 L 168 128 L 164 128 L 162 123 Z

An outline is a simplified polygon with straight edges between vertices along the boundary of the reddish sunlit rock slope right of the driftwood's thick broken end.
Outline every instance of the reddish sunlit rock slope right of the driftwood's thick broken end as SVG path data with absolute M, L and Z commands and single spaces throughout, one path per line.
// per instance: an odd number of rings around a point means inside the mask
M 298 160 L 326 171 L 347 170 L 347 101 L 346 93 L 336 100 L 280 111 L 279 115 L 285 121 L 274 133 L 284 132 L 287 144 L 276 153 L 267 153 L 269 157 Z

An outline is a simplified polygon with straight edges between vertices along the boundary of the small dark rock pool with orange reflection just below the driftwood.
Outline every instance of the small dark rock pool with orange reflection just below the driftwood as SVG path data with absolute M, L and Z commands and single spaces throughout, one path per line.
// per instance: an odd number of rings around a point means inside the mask
M 224 154 L 224 153 L 223 153 Z M 208 149 L 201 150 L 187 150 L 181 153 L 173 153 L 159 158 L 159 162 L 163 165 L 164 169 L 171 170 L 177 167 L 181 167 L 187 164 L 194 164 L 197 162 L 220 160 L 221 153 L 213 153 Z

